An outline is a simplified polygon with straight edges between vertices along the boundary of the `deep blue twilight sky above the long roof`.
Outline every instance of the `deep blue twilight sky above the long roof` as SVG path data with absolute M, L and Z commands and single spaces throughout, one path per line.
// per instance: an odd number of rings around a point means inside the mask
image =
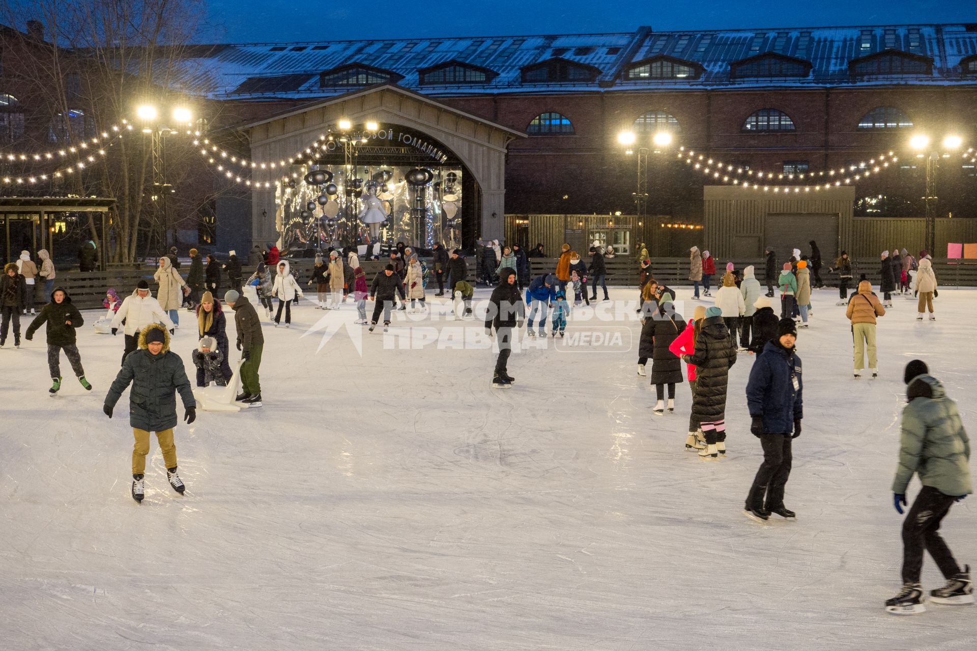
M 334 41 L 655 29 L 977 22 L 977 0 L 204 0 L 198 42 Z

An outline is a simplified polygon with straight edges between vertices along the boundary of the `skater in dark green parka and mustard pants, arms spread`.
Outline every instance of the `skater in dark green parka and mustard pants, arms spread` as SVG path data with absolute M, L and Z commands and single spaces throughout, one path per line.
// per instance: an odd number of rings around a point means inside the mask
M 173 428 L 177 427 L 176 393 L 180 392 L 190 425 L 196 419 L 196 401 L 187 371 L 180 355 L 170 350 L 170 334 L 158 323 L 152 323 L 139 334 L 139 349 L 131 352 L 108 389 L 102 410 L 112 417 L 115 403 L 122 391 L 129 391 L 129 425 L 136 438 L 132 451 L 132 497 L 142 502 L 146 494 L 144 473 L 149 454 L 149 432 L 156 432 L 159 449 L 166 464 L 166 478 L 173 490 L 183 494 L 184 483 L 177 474 L 177 448 L 173 443 Z

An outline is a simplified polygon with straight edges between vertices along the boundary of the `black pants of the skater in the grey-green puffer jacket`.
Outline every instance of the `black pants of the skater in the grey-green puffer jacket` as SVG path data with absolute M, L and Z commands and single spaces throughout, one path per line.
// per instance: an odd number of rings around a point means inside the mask
M 940 536 L 940 522 L 953 505 L 953 497 L 932 486 L 923 486 L 919 491 L 903 520 L 903 583 L 919 583 L 923 549 L 933 556 L 944 578 L 959 573 L 954 554 Z

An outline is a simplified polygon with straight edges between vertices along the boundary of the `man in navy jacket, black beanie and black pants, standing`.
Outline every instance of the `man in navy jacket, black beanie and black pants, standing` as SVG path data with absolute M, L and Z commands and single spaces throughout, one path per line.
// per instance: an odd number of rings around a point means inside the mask
M 763 464 L 756 471 L 743 511 L 754 520 L 766 520 L 771 513 L 784 518 L 796 515 L 784 507 L 784 487 L 792 459 L 790 442 L 800 436 L 804 417 L 804 386 L 800 357 L 794 351 L 796 341 L 793 319 L 782 319 L 777 324 L 777 338 L 763 347 L 746 384 L 746 404 L 752 419 L 749 430 L 763 445 Z

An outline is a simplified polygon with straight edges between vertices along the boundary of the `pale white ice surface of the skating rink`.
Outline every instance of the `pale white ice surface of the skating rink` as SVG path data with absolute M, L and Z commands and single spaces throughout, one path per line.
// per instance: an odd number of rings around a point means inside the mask
M 878 328 L 882 375 L 855 381 L 837 293 L 815 292 L 786 491 L 798 519 L 767 526 L 741 512 L 761 459 L 743 398 L 748 355 L 732 371 L 729 458 L 709 463 L 684 450 L 688 386 L 674 415 L 655 417 L 636 347 L 618 350 L 626 342 L 524 350 L 509 364 L 517 385 L 491 389 L 484 347 L 420 347 L 433 337 L 417 331 L 417 348 L 385 349 L 406 322 L 363 338 L 362 356 L 349 331 L 327 328 L 317 353 L 320 333 L 302 337 L 310 326 L 323 315 L 352 323 L 356 310 L 303 301 L 292 329 L 266 326 L 265 406 L 181 423 L 182 498 L 153 437 L 140 506 L 124 403 L 111 421 L 101 409 L 122 337 L 86 325 L 79 346 L 95 390 L 70 379 L 63 358 L 51 398 L 40 332 L 0 350 L 2 646 L 973 647 L 972 607 L 897 618 L 882 602 L 900 585 L 889 487 L 903 366 L 925 359 L 974 424 L 974 296 L 941 291 L 935 323 L 896 297 Z M 639 324 L 624 318 L 633 307 L 618 314 L 568 332 L 616 327 L 636 346 Z M 181 317 L 174 349 L 192 371 L 192 320 Z M 482 325 L 465 325 L 474 345 Z M 977 565 L 975 508 L 966 500 L 944 523 L 961 564 Z M 928 557 L 923 582 L 943 584 Z

